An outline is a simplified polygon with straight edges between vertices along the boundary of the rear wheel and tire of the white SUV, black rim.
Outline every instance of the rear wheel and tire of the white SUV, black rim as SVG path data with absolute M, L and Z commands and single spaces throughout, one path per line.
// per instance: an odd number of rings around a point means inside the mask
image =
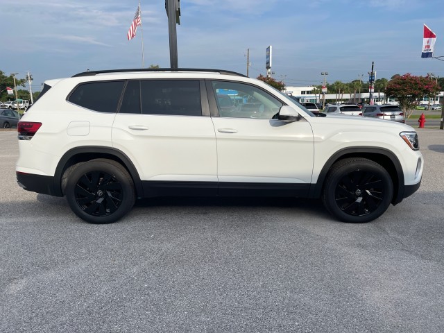
M 133 179 L 118 162 L 91 160 L 72 168 L 65 195 L 71 210 L 89 223 L 113 223 L 135 203 Z

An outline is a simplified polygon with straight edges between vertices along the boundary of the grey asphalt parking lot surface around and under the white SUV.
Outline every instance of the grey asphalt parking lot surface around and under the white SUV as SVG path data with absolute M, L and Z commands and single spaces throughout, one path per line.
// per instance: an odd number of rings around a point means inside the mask
M 316 200 L 141 200 L 91 225 L 15 182 L 0 131 L 0 332 L 444 332 L 444 130 L 376 221 Z

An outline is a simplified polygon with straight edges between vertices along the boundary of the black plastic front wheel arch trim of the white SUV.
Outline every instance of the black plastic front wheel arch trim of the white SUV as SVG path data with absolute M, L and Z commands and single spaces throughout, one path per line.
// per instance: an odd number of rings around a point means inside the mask
M 386 169 L 393 182 L 393 198 L 391 203 L 396 205 L 402 201 L 402 198 L 404 198 L 404 171 L 402 171 L 402 166 L 398 157 L 388 149 L 373 147 L 352 147 L 336 151 L 336 153 L 330 156 L 324 164 L 316 184 L 311 184 L 309 198 L 319 198 L 323 190 L 327 173 L 330 171 L 333 164 L 339 160 L 350 157 L 362 157 L 381 164 L 382 167 Z

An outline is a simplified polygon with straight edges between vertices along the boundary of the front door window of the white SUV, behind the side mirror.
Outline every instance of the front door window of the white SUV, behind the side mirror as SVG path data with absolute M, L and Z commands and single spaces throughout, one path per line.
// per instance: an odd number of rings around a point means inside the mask
M 272 119 L 282 103 L 262 89 L 243 83 L 213 81 L 220 117 Z M 232 103 L 226 103 L 229 98 Z

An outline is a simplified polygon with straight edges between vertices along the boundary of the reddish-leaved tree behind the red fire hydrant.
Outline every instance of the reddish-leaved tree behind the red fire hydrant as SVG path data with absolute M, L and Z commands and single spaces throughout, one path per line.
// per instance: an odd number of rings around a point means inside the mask
M 393 76 L 386 87 L 388 96 L 398 99 L 406 117 L 413 113 L 413 105 L 416 105 L 423 96 L 431 96 L 438 91 L 436 80 L 424 76 L 413 76 L 410 73 L 402 76 Z

